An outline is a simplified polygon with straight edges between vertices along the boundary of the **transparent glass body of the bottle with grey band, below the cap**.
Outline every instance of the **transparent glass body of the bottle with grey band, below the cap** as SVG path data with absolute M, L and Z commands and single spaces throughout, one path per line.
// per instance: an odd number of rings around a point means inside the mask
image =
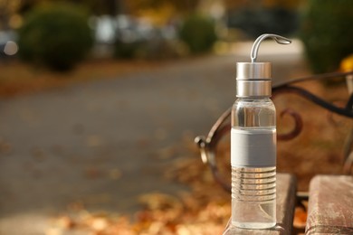
M 276 224 L 276 111 L 269 98 L 238 98 L 232 109 L 232 225 Z M 240 143 L 240 144 L 239 144 Z

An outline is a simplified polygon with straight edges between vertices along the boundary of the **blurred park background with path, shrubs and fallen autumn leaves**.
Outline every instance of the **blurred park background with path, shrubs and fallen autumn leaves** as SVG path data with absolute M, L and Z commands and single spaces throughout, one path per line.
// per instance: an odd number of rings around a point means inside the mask
M 0 234 L 221 234 L 230 195 L 193 141 L 233 104 L 235 62 L 277 33 L 292 44 L 259 51 L 274 84 L 351 71 L 352 24 L 351 0 L 0 0 Z M 348 99 L 345 80 L 301 86 Z M 301 191 L 341 174 L 350 120 L 274 102 L 304 122 L 278 171 Z

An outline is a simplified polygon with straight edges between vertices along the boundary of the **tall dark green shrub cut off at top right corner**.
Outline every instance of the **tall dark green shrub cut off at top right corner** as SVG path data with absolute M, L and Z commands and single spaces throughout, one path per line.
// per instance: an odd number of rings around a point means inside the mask
M 308 1 L 300 35 L 313 72 L 335 71 L 353 52 L 352 9 L 352 0 Z

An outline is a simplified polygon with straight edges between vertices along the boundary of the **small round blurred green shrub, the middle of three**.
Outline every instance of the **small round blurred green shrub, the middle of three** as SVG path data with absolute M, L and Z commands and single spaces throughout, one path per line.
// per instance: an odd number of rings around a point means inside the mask
M 203 15 L 190 15 L 181 26 L 179 37 L 186 43 L 190 52 L 208 52 L 217 40 L 215 24 Z

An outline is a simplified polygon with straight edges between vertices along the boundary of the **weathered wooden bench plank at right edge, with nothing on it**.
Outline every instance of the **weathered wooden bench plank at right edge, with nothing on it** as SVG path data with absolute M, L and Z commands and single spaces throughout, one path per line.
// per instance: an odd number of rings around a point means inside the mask
M 306 234 L 353 234 L 353 177 L 317 175 L 310 182 Z

